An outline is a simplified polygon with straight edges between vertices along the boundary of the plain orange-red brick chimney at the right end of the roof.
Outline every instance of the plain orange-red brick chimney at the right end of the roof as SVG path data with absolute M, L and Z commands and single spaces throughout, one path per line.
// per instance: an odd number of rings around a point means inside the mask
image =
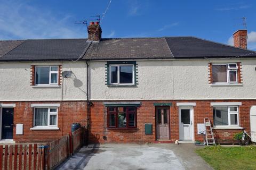
M 233 33 L 234 46 L 247 49 L 247 30 L 238 30 Z

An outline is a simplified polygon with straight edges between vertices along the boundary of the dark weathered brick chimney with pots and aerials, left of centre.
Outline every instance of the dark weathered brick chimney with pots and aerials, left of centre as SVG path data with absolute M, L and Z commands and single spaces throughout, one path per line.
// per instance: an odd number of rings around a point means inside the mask
M 88 27 L 88 41 L 100 41 L 101 32 L 99 22 L 90 22 Z

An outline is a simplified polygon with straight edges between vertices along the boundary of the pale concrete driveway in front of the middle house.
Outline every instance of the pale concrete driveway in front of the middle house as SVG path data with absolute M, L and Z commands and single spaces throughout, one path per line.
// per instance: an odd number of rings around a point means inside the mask
M 197 148 L 190 143 L 90 145 L 57 169 L 212 169 L 194 152 Z

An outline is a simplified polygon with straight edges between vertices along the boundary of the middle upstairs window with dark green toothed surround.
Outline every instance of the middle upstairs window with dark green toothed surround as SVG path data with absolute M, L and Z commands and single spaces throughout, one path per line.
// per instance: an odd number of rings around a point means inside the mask
M 107 62 L 106 71 L 108 86 L 135 86 L 138 84 L 135 61 Z

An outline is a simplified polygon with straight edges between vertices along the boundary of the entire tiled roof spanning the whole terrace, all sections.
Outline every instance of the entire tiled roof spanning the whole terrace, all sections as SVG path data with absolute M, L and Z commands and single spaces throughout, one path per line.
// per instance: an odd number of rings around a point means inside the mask
M 0 41 L 0 48 L 0 61 L 256 57 L 252 50 L 196 37 L 108 38 L 91 44 L 87 39 Z

